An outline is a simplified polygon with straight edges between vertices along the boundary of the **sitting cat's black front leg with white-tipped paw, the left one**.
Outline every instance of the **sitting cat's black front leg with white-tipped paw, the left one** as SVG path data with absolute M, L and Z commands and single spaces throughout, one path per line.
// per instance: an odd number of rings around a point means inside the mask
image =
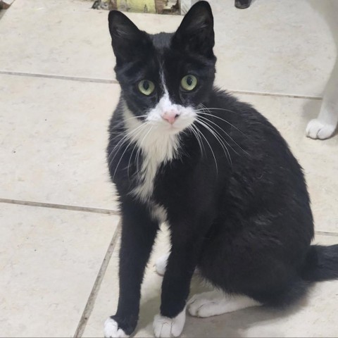
M 128 337 L 135 330 L 144 268 L 157 230 L 158 223 L 149 218 L 142 206 L 122 205 L 118 310 L 104 323 L 105 337 Z

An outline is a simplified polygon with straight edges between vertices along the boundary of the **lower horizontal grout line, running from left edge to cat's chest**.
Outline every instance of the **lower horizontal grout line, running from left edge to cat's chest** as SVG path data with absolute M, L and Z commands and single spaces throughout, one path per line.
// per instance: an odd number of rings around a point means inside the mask
M 88 213 L 105 213 L 108 215 L 119 215 L 119 211 L 101 208 L 89 208 L 87 206 L 68 206 L 66 204 L 53 204 L 44 202 L 21 201 L 18 199 L 0 199 L 0 203 L 18 204 L 20 206 L 39 206 L 42 208 L 65 209 L 72 211 L 86 211 Z

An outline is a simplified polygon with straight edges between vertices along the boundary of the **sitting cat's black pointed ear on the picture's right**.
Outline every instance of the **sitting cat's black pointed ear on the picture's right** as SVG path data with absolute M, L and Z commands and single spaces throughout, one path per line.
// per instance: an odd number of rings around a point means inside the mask
M 184 16 L 172 39 L 172 46 L 207 58 L 215 58 L 213 46 L 213 12 L 207 1 L 199 1 Z

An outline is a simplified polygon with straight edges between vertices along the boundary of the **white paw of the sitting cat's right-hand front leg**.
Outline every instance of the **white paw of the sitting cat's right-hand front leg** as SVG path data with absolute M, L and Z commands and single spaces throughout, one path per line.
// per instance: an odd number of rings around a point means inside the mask
M 178 337 L 183 330 L 184 323 L 185 308 L 175 318 L 156 315 L 153 323 L 155 337 Z

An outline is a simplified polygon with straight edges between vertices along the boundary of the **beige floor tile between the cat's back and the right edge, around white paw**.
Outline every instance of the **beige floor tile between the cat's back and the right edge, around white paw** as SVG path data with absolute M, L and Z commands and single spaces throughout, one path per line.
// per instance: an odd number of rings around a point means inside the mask
M 306 125 L 321 101 L 237 95 L 256 107 L 281 132 L 303 167 L 312 201 L 315 229 L 338 232 L 338 137 L 325 141 L 305 136 Z

